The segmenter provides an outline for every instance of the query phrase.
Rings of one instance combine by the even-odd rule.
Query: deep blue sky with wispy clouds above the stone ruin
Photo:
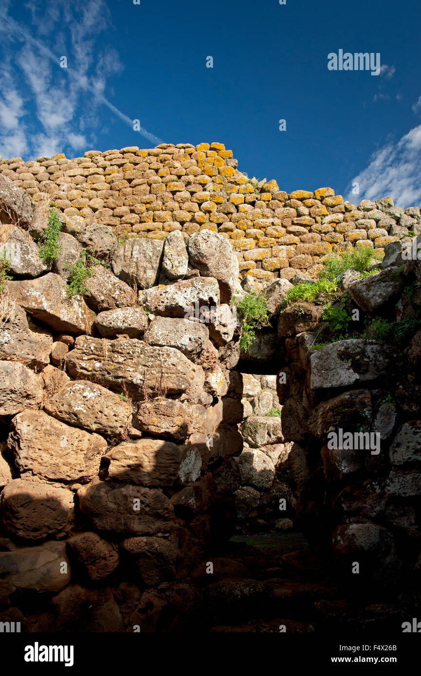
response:
[[[220,141],[288,192],[419,206],[420,20],[419,0],[0,0],[0,154]],[[340,49],[380,74],[328,70]]]

